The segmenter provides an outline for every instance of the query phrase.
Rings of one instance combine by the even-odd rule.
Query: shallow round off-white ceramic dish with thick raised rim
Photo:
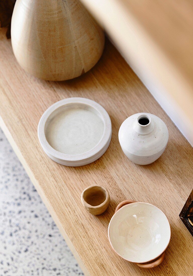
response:
[[[98,103],[73,97],[51,105],[38,124],[44,152],[65,166],[83,166],[101,157],[109,147],[111,120]]]

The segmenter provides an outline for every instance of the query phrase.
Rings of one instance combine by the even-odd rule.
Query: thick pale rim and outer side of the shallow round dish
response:
[[[97,112],[100,113],[101,118],[104,122],[104,132],[101,140],[91,150],[77,155],[65,154],[55,150],[47,142],[45,135],[45,125],[49,116],[59,107],[68,105],[70,103],[80,103],[94,108]],[[99,103],[82,97],[71,97],[55,102],[49,108],[47,108],[38,123],[38,139],[44,152],[55,162],[64,164],[66,166],[82,166],[84,164],[88,164],[97,160],[107,150],[110,144],[111,135],[112,125],[110,116],[107,111]],[[89,160],[91,160],[91,162],[89,162]]]

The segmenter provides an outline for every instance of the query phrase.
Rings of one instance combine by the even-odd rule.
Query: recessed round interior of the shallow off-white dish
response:
[[[68,103],[51,113],[44,131],[52,148],[77,155],[88,152],[99,143],[104,134],[104,120],[87,104]]]

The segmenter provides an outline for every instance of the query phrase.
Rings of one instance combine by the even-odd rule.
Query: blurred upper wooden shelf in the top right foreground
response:
[[[192,1],[81,2],[193,145]]]

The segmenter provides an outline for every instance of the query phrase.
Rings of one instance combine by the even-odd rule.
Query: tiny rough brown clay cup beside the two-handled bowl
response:
[[[89,213],[100,215],[108,208],[110,196],[105,187],[91,185],[82,192],[81,201]]]

